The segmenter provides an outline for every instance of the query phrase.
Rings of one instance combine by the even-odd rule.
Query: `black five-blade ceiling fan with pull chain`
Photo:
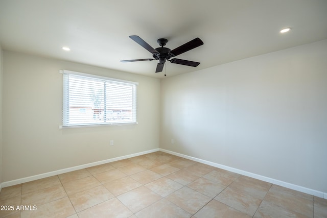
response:
[[[132,40],[134,40],[137,44],[144,47],[146,50],[148,50],[153,58],[145,58],[145,59],[134,59],[134,60],[122,60],[121,62],[134,62],[134,61],[153,61],[153,60],[159,60],[159,63],[157,63],[157,68],[155,72],[161,72],[162,69],[164,69],[164,65],[166,61],[170,61],[174,64],[181,64],[186,66],[193,66],[196,67],[200,64],[200,62],[194,62],[194,61],[188,61],[188,60],[182,60],[178,58],[173,58],[177,55],[180,55],[184,52],[190,51],[192,49],[195,49],[196,47],[203,45],[203,42],[199,38],[195,38],[189,42],[186,42],[185,44],[176,47],[174,50],[168,49],[168,47],[164,47],[166,43],[168,42],[167,39],[160,38],[157,40],[158,44],[161,47],[157,47],[156,49],[153,49],[151,45],[149,45],[147,42],[145,42],[141,37],[139,36],[129,36]]]

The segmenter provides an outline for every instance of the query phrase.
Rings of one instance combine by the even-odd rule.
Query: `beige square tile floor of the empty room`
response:
[[[327,217],[327,200],[163,152],[5,187],[0,205],[7,218]]]

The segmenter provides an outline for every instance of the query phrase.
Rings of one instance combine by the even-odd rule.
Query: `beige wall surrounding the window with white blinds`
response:
[[[3,182],[159,148],[158,79],[15,52],[3,56]],[[60,69],[138,82],[138,125],[59,129]]]

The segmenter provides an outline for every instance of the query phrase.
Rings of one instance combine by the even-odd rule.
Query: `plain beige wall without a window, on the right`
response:
[[[327,192],[326,60],[323,40],[161,80],[160,148]]]

